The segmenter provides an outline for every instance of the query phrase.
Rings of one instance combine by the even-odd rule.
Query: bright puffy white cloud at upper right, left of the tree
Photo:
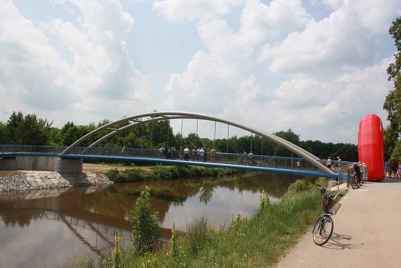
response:
[[[377,57],[376,41],[367,29],[342,10],[302,32],[292,32],[277,45],[266,44],[259,61],[269,60],[274,73],[332,73],[362,67]]]

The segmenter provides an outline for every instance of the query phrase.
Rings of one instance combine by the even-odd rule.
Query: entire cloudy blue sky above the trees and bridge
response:
[[[0,0],[0,121],[197,112],[357,143],[393,88],[399,0]],[[181,122],[172,121],[174,132]],[[183,134],[195,132],[185,120]],[[199,122],[213,138],[214,122]],[[250,135],[230,129],[231,135]],[[217,137],[227,137],[218,125]]]

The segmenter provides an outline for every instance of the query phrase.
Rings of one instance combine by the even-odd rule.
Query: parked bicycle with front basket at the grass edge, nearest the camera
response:
[[[338,192],[335,196],[329,195],[326,188],[321,185],[316,185],[320,187],[320,192],[322,196],[322,215],[316,220],[313,226],[313,241],[317,245],[324,245],[331,237],[334,228],[334,222],[331,215],[335,215],[340,208],[341,204],[336,202],[337,196],[343,196]]]

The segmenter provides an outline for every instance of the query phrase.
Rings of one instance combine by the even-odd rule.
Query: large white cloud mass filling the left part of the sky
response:
[[[119,1],[74,0],[81,11],[78,26],[56,19],[40,28],[10,1],[2,2],[0,98],[12,96],[8,103],[14,105],[6,103],[6,110],[26,107],[25,113],[34,108],[38,114],[46,114],[44,111],[51,109],[79,119],[80,112],[89,112],[93,115],[86,117],[97,121],[104,114],[115,118],[149,105],[150,83],[134,67],[126,47],[134,21]],[[61,44],[54,42],[55,37]],[[64,48],[70,61],[64,59]]]

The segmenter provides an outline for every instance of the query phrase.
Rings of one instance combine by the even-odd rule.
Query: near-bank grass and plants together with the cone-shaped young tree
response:
[[[318,178],[316,184],[327,184],[327,181]],[[151,201],[146,187],[137,201],[137,207],[143,209],[135,209],[132,214],[134,234],[131,237],[116,236],[114,248],[96,262],[91,257],[81,258],[70,267],[272,266],[279,263],[320,215],[321,197],[311,178],[305,177],[292,183],[278,202],[270,203],[263,191],[259,208],[249,218],[238,214],[231,224],[214,229],[207,216],[202,215],[193,218],[179,232],[173,227],[170,240],[156,241],[158,231],[154,228],[154,220],[157,212],[146,205]],[[138,202],[141,203],[138,205]],[[149,223],[153,226],[152,231],[138,233]],[[143,239],[145,235],[148,237],[145,242],[137,239]]]

